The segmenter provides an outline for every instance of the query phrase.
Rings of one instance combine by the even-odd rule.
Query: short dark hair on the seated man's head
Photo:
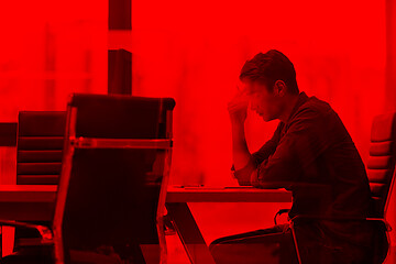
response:
[[[240,79],[264,82],[270,89],[276,80],[283,80],[290,94],[298,95],[296,70],[288,57],[279,51],[271,50],[258,53],[252,59],[246,61],[241,69]]]

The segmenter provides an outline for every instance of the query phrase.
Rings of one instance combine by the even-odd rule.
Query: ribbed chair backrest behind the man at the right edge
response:
[[[374,118],[371,131],[367,176],[374,200],[375,217],[383,218],[387,210],[389,191],[395,178],[396,112]]]

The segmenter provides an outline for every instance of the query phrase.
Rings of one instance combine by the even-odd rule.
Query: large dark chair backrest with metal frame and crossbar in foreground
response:
[[[174,106],[170,98],[72,97],[53,226],[58,263],[101,249],[158,263]]]

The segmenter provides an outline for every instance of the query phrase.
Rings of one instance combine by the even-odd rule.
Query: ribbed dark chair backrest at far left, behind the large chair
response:
[[[62,168],[64,111],[21,111],[18,122],[16,184],[55,185]]]

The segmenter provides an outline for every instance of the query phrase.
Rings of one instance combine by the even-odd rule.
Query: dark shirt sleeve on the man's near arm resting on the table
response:
[[[251,175],[255,187],[290,187],[328,147],[326,117],[312,109],[302,109],[287,124],[275,152]]]

